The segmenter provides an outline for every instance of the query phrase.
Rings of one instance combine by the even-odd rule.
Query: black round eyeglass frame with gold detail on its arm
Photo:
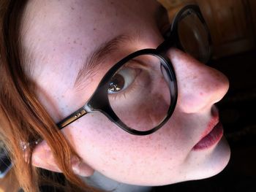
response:
[[[200,12],[200,9],[197,5],[187,5],[186,7],[182,8],[178,12],[176,17],[173,19],[173,23],[171,24],[170,29],[164,34],[165,41],[162,42],[157,47],[157,49],[138,50],[135,53],[131,53],[127,55],[125,58],[121,59],[121,61],[118,61],[113,67],[110,68],[110,70],[105,74],[105,76],[99,82],[99,85],[96,91],[94,91],[89,101],[87,101],[86,104],[83,107],[81,107],[79,110],[72,112],[72,114],[69,115],[67,118],[64,118],[64,120],[61,120],[59,123],[57,123],[57,126],[59,127],[59,129],[64,128],[65,126],[68,126],[70,123],[83,117],[83,115],[86,115],[87,113],[94,112],[94,111],[102,112],[113,123],[115,123],[117,126],[122,128],[124,131],[127,131],[129,134],[147,135],[147,134],[152,134],[155,131],[157,131],[159,128],[161,128],[165,124],[165,122],[170,118],[170,116],[173,114],[173,111],[175,110],[175,107],[176,107],[177,98],[178,98],[178,85],[176,80],[176,74],[174,72],[173,65],[170,62],[170,59],[165,56],[165,53],[168,49],[170,49],[170,47],[178,47],[179,49],[184,50],[178,38],[178,22],[179,20],[182,19],[181,15],[183,15],[183,13],[187,9],[192,9],[197,14],[198,18],[200,18],[200,21],[203,23],[203,26],[205,26],[206,30],[208,31],[206,22],[203,19],[203,15]],[[209,33],[208,33],[208,41],[211,43],[211,36]],[[162,120],[162,122],[159,123],[158,126],[148,131],[138,131],[126,126],[118,118],[116,113],[112,110],[112,108],[110,107],[110,103],[108,101],[108,86],[109,86],[109,81],[111,80],[111,77],[113,77],[113,74],[115,74],[118,71],[118,69],[121,68],[121,66],[126,64],[127,61],[131,60],[132,58],[138,57],[139,55],[154,55],[155,57],[159,58],[159,61],[161,62],[162,66],[165,68],[168,78],[170,79],[170,82],[169,82],[170,107],[167,110],[167,115]]]

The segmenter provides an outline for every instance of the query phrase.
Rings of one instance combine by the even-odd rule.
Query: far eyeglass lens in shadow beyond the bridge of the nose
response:
[[[211,55],[208,29],[193,9],[187,9],[178,22],[178,38],[184,51],[206,63]]]

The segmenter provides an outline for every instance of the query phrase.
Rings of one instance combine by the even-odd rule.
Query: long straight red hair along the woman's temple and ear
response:
[[[24,191],[39,191],[42,180],[31,165],[35,146],[27,147],[28,157],[25,160],[20,143],[44,139],[67,178],[64,191],[97,191],[72,171],[70,159],[78,154],[37,100],[34,83],[24,72],[26,61],[21,55],[21,21],[18,18],[22,18],[27,1],[0,0],[0,139],[6,145],[12,162],[15,162],[14,174],[9,177],[17,177],[18,185]]]

